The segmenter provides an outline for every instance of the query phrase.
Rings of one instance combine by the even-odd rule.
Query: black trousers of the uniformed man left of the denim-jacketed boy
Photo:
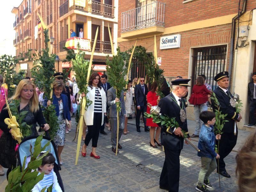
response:
[[[180,151],[181,150],[170,150],[164,146],[165,159],[159,185],[168,189],[169,192],[179,191]]]

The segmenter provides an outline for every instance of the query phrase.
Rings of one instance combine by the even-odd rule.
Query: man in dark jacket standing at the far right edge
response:
[[[255,121],[255,109],[256,109],[256,72],[252,74],[253,81],[248,83],[248,101],[249,101],[249,110],[250,110],[250,124],[252,126],[256,123]]]

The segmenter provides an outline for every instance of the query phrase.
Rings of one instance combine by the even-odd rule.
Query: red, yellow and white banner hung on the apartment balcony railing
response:
[[[80,37],[71,37],[67,39],[65,47],[68,49],[77,49],[77,44],[79,43],[80,49],[83,51],[91,51],[91,41],[90,39],[84,39]]]

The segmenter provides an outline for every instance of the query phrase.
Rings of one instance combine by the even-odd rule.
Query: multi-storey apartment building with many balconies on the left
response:
[[[30,12],[29,17],[26,16],[25,19],[26,6],[29,7]],[[80,28],[83,28],[83,38],[90,41],[90,47],[88,51],[85,51],[86,59],[90,59],[90,49],[96,32],[95,26],[99,27],[93,64],[104,65],[106,56],[109,54],[110,58],[112,57],[108,28],[106,28],[108,24],[111,28],[115,47],[117,46],[117,10],[117,0],[23,0],[18,7],[14,7],[12,10],[12,13],[15,14],[16,38],[13,44],[16,47],[16,56],[26,55],[25,52],[28,52],[28,49],[32,49],[32,53],[41,54],[42,48],[45,47],[43,30],[38,28],[40,26],[38,24],[39,13],[49,29],[49,37],[54,37],[52,53],[58,56],[58,60],[56,60],[57,71],[62,72],[63,68],[72,67],[72,63],[62,62],[67,54],[63,47],[65,47],[67,39],[70,38],[70,29],[73,29],[78,36]],[[23,20],[20,21],[23,16],[24,24]],[[29,29],[30,34],[28,40],[23,36],[27,29]],[[20,60],[19,64],[17,70],[21,66],[27,65],[27,75],[30,76],[33,62],[25,58],[24,61]],[[71,73],[71,76],[74,74]]]

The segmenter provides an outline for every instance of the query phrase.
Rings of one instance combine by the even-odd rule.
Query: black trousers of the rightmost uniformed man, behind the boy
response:
[[[219,159],[220,172],[226,171],[225,169],[226,164],[224,162],[224,158],[228,156],[228,154],[235,147],[236,140],[237,140],[237,134],[235,136],[234,133],[222,133],[221,139],[219,141],[218,140],[216,141],[217,147],[218,147],[218,142],[220,142],[219,149],[218,149],[219,155],[220,155],[220,159]],[[216,159],[216,161],[218,166],[218,160]],[[218,171],[218,167],[217,167],[217,171]]]

